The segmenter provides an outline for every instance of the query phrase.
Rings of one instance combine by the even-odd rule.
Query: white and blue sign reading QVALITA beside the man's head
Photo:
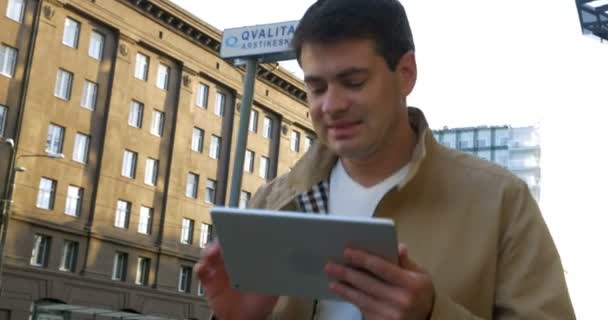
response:
[[[224,30],[220,56],[224,59],[256,58],[259,62],[295,59],[291,40],[298,20]]]

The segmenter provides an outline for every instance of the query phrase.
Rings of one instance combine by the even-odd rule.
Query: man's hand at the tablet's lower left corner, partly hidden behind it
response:
[[[222,248],[217,242],[203,249],[195,270],[205,288],[207,302],[220,320],[265,319],[277,303],[277,296],[244,293],[230,286]]]

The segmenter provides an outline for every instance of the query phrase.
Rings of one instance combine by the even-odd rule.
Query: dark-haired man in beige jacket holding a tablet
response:
[[[252,207],[388,217],[399,264],[347,249],[328,263],[346,302],[240,293],[221,248],[197,273],[216,318],[574,319],[563,269],[526,184],[439,145],[408,108],[414,43],[397,0],[319,0],[296,31],[318,143]],[[406,249],[407,247],[407,249]]]

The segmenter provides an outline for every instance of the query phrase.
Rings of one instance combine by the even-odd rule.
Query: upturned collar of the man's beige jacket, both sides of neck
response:
[[[409,162],[408,174],[399,183],[400,189],[416,175],[422,160],[426,157],[427,149],[434,143],[433,133],[429,129],[422,111],[418,108],[408,107],[408,116],[410,125],[418,136],[418,142]],[[328,179],[336,161],[338,161],[338,155],[325,145],[315,142],[291,170],[287,182],[296,194],[307,192],[313,186]]]

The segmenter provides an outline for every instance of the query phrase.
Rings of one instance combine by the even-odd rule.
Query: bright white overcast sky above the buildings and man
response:
[[[218,29],[298,20],[314,2],[172,1]],[[604,317],[608,42],[581,34],[574,0],[401,2],[418,62],[408,104],[432,128],[539,126],[540,204],[577,317]]]

